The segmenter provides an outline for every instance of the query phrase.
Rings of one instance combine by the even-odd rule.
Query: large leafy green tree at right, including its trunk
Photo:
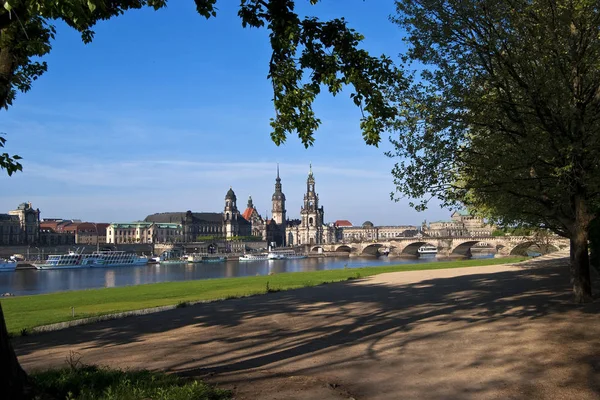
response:
[[[588,229],[600,195],[600,10],[593,0],[402,0],[407,63],[391,157],[397,191],[462,202],[571,241],[591,298]]]

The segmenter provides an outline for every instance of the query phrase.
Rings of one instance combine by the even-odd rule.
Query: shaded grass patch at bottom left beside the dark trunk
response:
[[[220,400],[231,394],[202,382],[150,371],[95,366],[49,370],[31,375],[37,391],[67,400]]]

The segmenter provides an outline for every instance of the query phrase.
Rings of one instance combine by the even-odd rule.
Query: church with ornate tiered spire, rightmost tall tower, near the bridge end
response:
[[[319,195],[315,189],[315,177],[310,166],[306,179],[304,205],[300,209],[300,222],[290,223],[286,229],[288,245],[318,245],[335,243],[335,226],[324,224],[325,212],[319,207]]]

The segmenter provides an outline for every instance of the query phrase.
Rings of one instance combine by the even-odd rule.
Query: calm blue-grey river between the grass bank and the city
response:
[[[479,255],[489,258],[493,255]],[[61,270],[17,270],[0,272],[0,294],[16,296],[53,293],[65,290],[96,289],[142,285],[146,283],[189,281],[268,275],[269,273],[321,271],[365,266],[415,264],[436,261],[435,256],[419,259],[374,258],[304,258],[277,261],[227,261],[213,264],[155,264],[140,267],[78,268]],[[443,262],[443,261],[440,261]]]

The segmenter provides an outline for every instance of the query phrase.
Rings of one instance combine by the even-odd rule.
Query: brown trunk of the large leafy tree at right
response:
[[[592,301],[590,256],[588,254],[588,231],[592,218],[582,197],[573,202],[575,221],[571,228],[571,283],[577,303]]]

